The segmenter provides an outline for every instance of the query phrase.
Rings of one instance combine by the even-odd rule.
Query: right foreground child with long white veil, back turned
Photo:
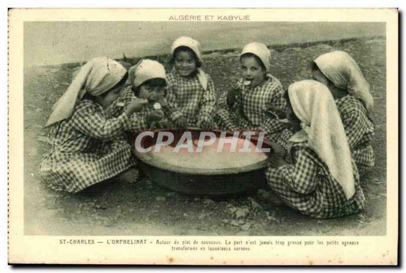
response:
[[[291,84],[286,115],[294,134],[288,155],[269,158],[268,185],[288,206],[315,218],[332,218],[362,211],[365,197],[340,114],[328,88],[313,80]]]

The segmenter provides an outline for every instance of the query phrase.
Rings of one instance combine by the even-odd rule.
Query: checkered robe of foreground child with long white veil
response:
[[[269,166],[266,171],[268,185],[289,207],[314,218],[340,217],[362,211],[365,197],[354,162],[355,194],[347,200],[327,165],[306,142],[295,143],[290,155],[292,164],[277,168]]]

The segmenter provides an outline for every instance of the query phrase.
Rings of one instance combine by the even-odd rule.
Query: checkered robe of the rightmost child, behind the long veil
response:
[[[374,166],[375,155],[372,148],[374,123],[369,119],[361,101],[353,95],[335,100],[347,134],[351,156],[359,174]]]

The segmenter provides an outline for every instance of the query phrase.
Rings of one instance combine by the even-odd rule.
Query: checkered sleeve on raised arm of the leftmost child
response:
[[[128,117],[125,113],[118,118],[106,119],[89,100],[81,101],[72,116],[73,126],[95,139],[111,140],[124,132]]]

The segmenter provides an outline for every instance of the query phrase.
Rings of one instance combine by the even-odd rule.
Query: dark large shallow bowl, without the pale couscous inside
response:
[[[142,147],[148,148],[153,146],[159,131],[168,130],[155,130],[154,138],[143,138],[141,142]],[[192,133],[193,138],[198,138],[201,132],[201,130],[196,128],[190,128],[188,131]],[[219,137],[221,131],[212,131]],[[177,143],[184,131],[171,130],[171,132],[174,133],[174,142]],[[232,136],[232,133],[228,132],[227,136]],[[132,139],[132,144],[134,143],[135,137]],[[256,144],[256,138],[252,138],[252,142]],[[141,153],[134,148],[134,145],[132,145],[132,147],[134,154],[136,154],[142,162],[143,172],[151,181],[178,192],[186,194],[223,195],[266,187],[264,174],[264,170],[267,166],[266,159],[239,168],[188,168],[162,162],[155,158],[153,153]],[[263,143],[262,147],[269,148],[266,143]]]

